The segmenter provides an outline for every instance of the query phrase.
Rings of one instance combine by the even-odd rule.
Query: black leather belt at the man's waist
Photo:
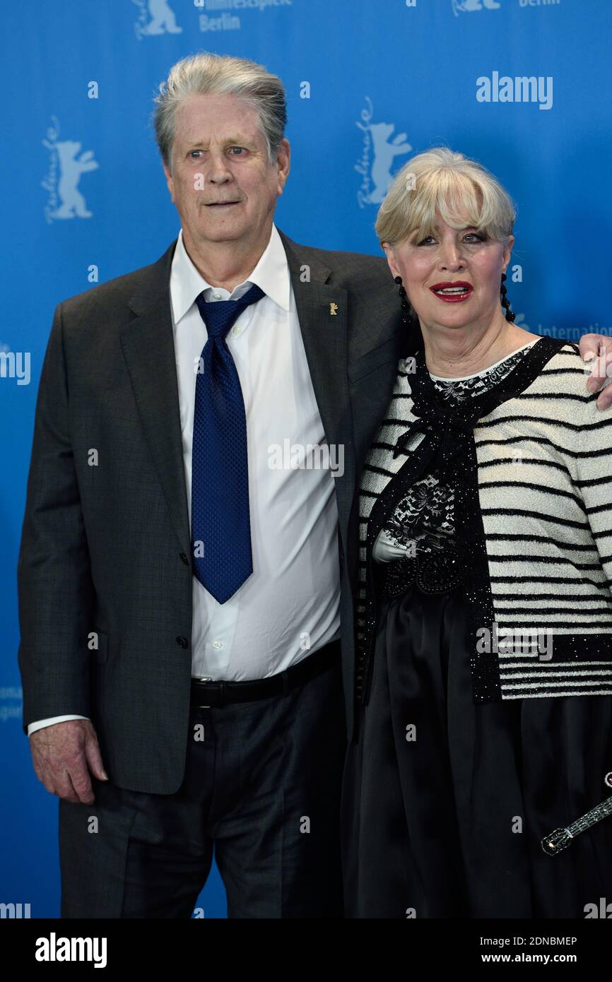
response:
[[[210,706],[226,706],[231,702],[252,702],[269,699],[272,695],[287,695],[297,685],[326,672],[340,659],[340,641],[330,641],[324,647],[306,655],[301,662],[268,679],[249,682],[212,682],[192,678],[192,706],[208,709]]]

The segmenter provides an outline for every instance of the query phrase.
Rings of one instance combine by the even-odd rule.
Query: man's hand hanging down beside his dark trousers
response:
[[[28,738],[36,777],[50,794],[75,803],[95,800],[89,771],[98,781],[108,781],[108,775],[89,720],[54,723]]]

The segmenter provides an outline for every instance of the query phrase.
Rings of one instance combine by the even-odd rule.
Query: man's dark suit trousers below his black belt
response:
[[[214,846],[230,917],[341,917],[339,663],[191,717],[175,794],[94,780],[92,804],[60,799],[61,916],[189,918]]]

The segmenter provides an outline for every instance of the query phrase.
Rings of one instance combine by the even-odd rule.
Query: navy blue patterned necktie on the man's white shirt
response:
[[[195,299],[208,339],[195,379],[192,546],[195,576],[220,604],[252,573],[247,416],[225,336],[264,296],[255,285],[240,300]]]

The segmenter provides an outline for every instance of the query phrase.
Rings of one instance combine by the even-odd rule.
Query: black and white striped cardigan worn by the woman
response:
[[[366,458],[360,491],[358,698],[375,637],[372,546],[402,490],[426,472],[423,432],[400,371]],[[541,338],[511,373],[513,395],[471,427],[458,548],[473,632],[475,702],[612,694],[612,410],[585,390],[578,347]],[[510,376],[509,376],[510,377]],[[413,381],[413,385],[415,382]],[[519,628],[551,637],[549,653],[516,643]],[[497,650],[480,640],[497,634]],[[502,643],[514,635],[515,643]]]

